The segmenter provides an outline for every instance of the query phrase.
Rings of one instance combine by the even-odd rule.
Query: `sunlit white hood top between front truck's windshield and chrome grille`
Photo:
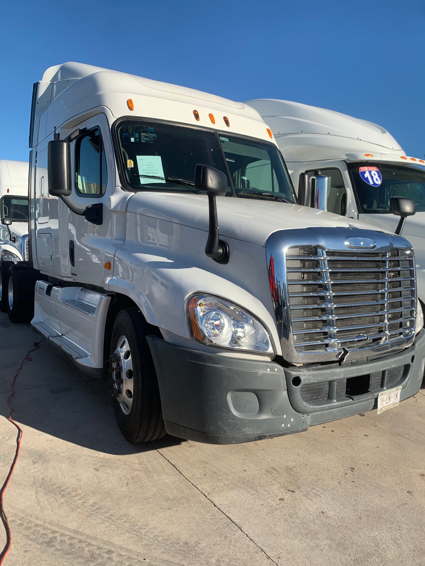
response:
[[[278,230],[352,226],[386,231],[351,218],[296,204],[229,197],[216,200],[220,236],[257,246],[265,246],[269,235]],[[139,192],[129,199],[127,211],[208,231],[208,199],[205,195]]]

